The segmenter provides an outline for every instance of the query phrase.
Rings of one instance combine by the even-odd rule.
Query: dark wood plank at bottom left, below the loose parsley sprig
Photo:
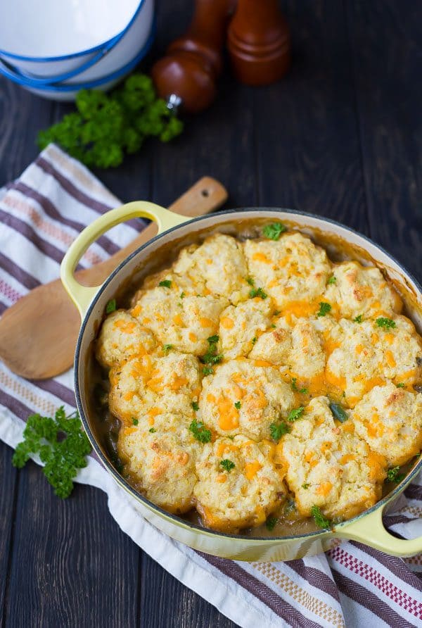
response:
[[[77,485],[67,500],[41,470],[20,472],[6,626],[134,626],[139,549],[106,495]]]

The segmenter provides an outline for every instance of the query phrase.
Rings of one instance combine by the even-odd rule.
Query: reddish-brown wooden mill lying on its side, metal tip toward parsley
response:
[[[170,108],[196,113],[215,99],[226,26],[236,0],[196,0],[191,25],[152,69],[158,95]]]

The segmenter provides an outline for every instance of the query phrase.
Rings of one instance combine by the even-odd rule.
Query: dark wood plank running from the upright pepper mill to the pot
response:
[[[343,3],[283,1],[293,67],[257,89],[261,205],[296,208],[367,230]]]

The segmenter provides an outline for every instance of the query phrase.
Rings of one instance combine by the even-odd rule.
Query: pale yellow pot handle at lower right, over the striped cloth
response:
[[[335,536],[359,541],[392,556],[414,556],[422,551],[422,536],[416,539],[397,539],[383,524],[384,504],[368,515],[362,515],[357,521],[345,523],[335,529]]]

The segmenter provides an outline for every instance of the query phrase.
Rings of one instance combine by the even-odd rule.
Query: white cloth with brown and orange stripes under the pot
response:
[[[129,199],[127,199],[129,200]],[[118,199],[56,146],[0,191],[0,315],[42,282],[56,279],[70,242]],[[107,258],[141,230],[120,225],[82,259]],[[27,382],[0,363],[0,438],[15,446],[27,415],[75,406],[72,372]],[[111,515],[136,544],[167,571],[245,628],[422,625],[422,555],[401,560],[344,542],[326,554],[289,563],[241,563],[200,554],[172,541],[142,519],[94,456],[78,482],[108,494]],[[422,534],[422,479],[418,477],[386,520],[405,538]]]

